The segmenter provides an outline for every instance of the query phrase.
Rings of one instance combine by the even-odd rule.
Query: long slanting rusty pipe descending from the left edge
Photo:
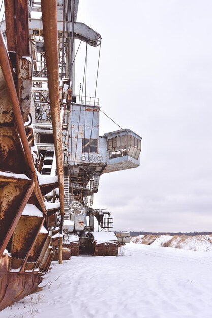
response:
[[[46,214],[46,208],[45,208],[45,204],[44,204],[43,197],[41,194],[40,186],[38,184],[37,175],[36,175],[36,171],[35,171],[35,165],[33,162],[31,150],[30,150],[29,145],[28,145],[28,140],[27,140],[26,131],[24,128],[23,118],[21,115],[19,100],[18,100],[18,96],[16,93],[16,88],[15,88],[15,84],[14,84],[14,80],[13,80],[13,76],[12,76],[12,72],[11,72],[11,68],[10,68],[10,60],[9,60],[9,56],[8,56],[8,53],[7,53],[7,50],[5,47],[2,32],[0,32],[0,65],[2,68],[2,72],[4,74],[4,78],[5,78],[5,82],[6,82],[8,91],[10,93],[10,98],[11,98],[11,102],[12,102],[12,106],[13,106],[13,113],[15,116],[15,121],[16,121],[17,129],[18,129],[18,133],[20,135],[20,139],[21,139],[23,149],[25,152],[26,160],[27,160],[29,169],[31,170],[31,173],[33,176],[33,181],[35,183],[35,194],[36,194],[36,197],[38,199],[38,202],[39,202],[44,214]]]

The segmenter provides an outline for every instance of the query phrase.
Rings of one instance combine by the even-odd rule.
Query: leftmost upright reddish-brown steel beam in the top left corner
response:
[[[14,0],[5,0],[5,21],[8,51],[16,51],[15,46]]]

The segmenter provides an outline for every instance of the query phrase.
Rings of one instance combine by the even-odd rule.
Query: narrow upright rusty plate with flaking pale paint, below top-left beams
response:
[[[18,65],[18,83],[19,83],[19,101],[22,110],[23,122],[28,118],[31,101],[32,86],[32,65],[29,58],[19,58]]]

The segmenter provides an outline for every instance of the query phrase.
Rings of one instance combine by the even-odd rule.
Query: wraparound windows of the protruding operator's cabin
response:
[[[141,141],[132,135],[116,136],[108,140],[108,151],[110,159],[128,155],[138,160]]]

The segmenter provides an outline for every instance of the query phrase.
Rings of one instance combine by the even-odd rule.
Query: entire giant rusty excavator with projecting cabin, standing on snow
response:
[[[139,166],[141,137],[99,136],[99,100],[75,94],[75,41],[101,44],[76,22],[78,3],[2,0],[0,310],[35,291],[52,260],[117,255],[129,241],[93,194],[103,173]]]

